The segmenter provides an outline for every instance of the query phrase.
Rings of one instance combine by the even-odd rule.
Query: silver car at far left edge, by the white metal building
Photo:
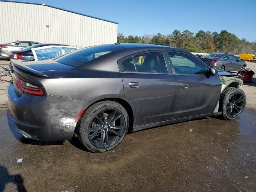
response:
[[[6,44],[0,44],[0,56],[2,57],[10,57],[10,52],[14,50],[21,50],[23,48],[40,44],[38,42],[33,41],[15,41]]]

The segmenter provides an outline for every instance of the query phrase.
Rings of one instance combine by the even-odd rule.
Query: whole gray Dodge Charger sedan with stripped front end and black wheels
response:
[[[190,52],[148,44],[109,44],[53,60],[12,59],[9,114],[36,140],[77,135],[92,152],[115,148],[128,131],[244,110],[242,81]]]

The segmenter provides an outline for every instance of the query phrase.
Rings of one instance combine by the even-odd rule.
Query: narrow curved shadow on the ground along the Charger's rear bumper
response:
[[[33,139],[25,138],[16,129],[16,125],[14,124],[14,122],[13,122],[12,118],[10,117],[10,114],[8,113],[8,111],[6,112],[6,116],[7,116],[7,122],[8,122],[8,126],[10,128],[10,131],[12,132],[13,136],[19,142],[22,142],[24,144],[41,145],[41,146],[45,146],[45,145],[63,145],[64,144],[64,141],[40,141],[40,140],[33,140]]]

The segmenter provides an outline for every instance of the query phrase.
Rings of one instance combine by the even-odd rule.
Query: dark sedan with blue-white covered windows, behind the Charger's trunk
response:
[[[74,50],[78,50],[78,48],[62,44],[38,44],[22,50],[12,51],[11,58],[25,61],[48,60]]]

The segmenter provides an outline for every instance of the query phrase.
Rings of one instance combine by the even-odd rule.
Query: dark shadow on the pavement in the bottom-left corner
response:
[[[20,174],[10,175],[8,169],[0,165],[0,192],[4,192],[4,188],[7,184],[12,183],[17,186],[18,192],[26,192],[26,188],[23,184],[23,178]]]

